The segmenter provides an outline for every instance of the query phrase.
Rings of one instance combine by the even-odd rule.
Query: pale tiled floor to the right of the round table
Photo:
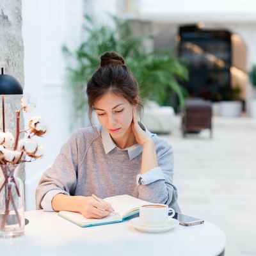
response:
[[[180,134],[173,120],[175,185],[183,212],[200,216],[227,236],[227,256],[256,255],[256,120],[213,119],[209,132]]]

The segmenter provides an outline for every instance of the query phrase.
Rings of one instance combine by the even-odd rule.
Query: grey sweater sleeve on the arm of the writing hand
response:
[[[42,209],[42,200],[51,190],[72,195],[77,184],[77,134],[74,134],[65,143],[56,157],[51,168],[47,169],[36,188],[36,209]],[[51,204],[51,202],[48,202]]]

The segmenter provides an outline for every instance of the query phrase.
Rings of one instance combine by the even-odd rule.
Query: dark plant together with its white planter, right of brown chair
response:
[[[240,98],[241,88],[225,86],[220,90],[220,116],[241,116],[242,102]]]

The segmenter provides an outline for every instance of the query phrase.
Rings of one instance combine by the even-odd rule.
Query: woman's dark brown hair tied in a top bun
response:
[[[100,67],[87,83],[88,115],[91,124],[93,104],[108,92],[124,97],[132,105],[142,107],[135,99],[136,95],[139,95],[138,83],[125,66],[124,58],[116,52],[105,52],[100,56]]]

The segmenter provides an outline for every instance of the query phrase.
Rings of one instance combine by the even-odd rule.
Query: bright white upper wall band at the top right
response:
[[[177,21],[232,21],[244,22],[256,19],[254,0],[140,0],[134,5],[138,17],[148,20]]]

